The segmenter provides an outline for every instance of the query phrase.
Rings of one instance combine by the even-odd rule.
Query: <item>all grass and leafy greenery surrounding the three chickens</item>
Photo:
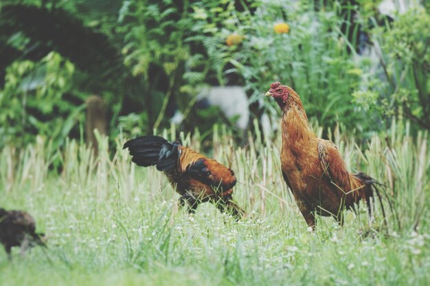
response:
[[[12,262],[0,250],[0,286],[428,285],[430,2],[407,2],[1,1],[0,207],[32,214],[49,247]],[[263,96],[275,81],[350,171],[381,182],[372,219],[360,206],[308,231]],[[242,86],[246,130],[201,108],[210,86]],[[98,154],[92,95],[107,110]],[[152,133],[231,167],[249,215],[179,208],[165,176],[122,150]]]

